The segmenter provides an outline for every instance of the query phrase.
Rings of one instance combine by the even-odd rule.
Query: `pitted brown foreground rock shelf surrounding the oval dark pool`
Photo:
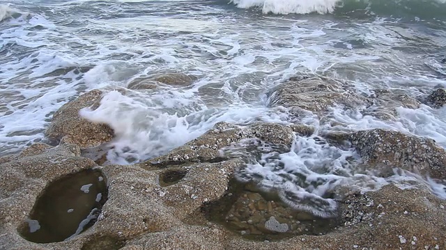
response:
[[[311,131],[306,127],[293,128],[300,133]],[[34,201],[48,183],[97,165],[80,157],[78,146],[67,143],[54,148],[36,144],[17,156],[0,159],[0,248],[289,250],[446,247],[443,233],[446,202],[426,187],[400,189],[390,184],[376,192],[355,192],[349,187],[339,187],[339,215],[329,227],[323,227],[328,225],[323,223],[318,226],[317,222],[323,222],[318,221],[320,218],[290,210],[280,201],[256,190],[238,189],[231,176],[235,169],[243,166],[243,159],[219,158],[219,149],[249,138],[287,145],[293,142],[293,133],[291,127],[279,124],[236,126],[220,123],[197,140],[155,161],[100,167],[107,179],[108,200],[102,206],[98,221],[70,240],[50,244],[29,242],[17,233],[17,228],[31,213]],[[403,148],[431,164],[426,166],[426,171],[430,172],[431,168],[436,169],[436,164],[442,163],[439,155],[442,152],[429,140],[382,130],[361,131],[348,138],[370,165],[387,159],[396,165],[409,166],[412,163],[409,164],[406,158],[390,151]],[[383,142],[388,145],[379,147]],[[421,151],[417,151],[419,149]],[[405,157],[410,155],[408,151],[406,153]],[[422,153],[426,153],[431,161],[421,158],[419,154]],[[222,199],[226,199],[224,203],[220,203]],[[209,209],[212,204],[219,205],[227,213],[217,215],[215,210]],[[229,219],[231,214],[236,214],[239,223]],[[220,217],[223,220],[228,217],[228,222],[238,230],[219,221],[218,216],[223,216]]]

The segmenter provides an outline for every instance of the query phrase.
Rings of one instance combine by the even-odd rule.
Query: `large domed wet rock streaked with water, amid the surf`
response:
[[[322,114],[327,108],[339,104],[346,108],[364,105],[364,97],[355,93],[353,86],[330,78],[312,77],[296,79],[278,85],[269,94],[269,105],[299,109]]]

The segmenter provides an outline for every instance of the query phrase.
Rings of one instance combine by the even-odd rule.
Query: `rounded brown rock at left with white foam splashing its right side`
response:
[[[75,144],[81,148],[95,147],[112,140],[114,131],[105,124],[95,124],[79,116],[82,108],[98,108],[102,91],[91,90],[64,104],[52,118],[45,135],[48,138]]]

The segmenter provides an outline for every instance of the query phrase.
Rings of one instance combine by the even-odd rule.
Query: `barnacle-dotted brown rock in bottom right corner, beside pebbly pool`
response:
[[[227,249],[444,249],[445,201],[428,190],[386,185],[344,198],[344,223],[325,235],[300,235],[279,242],[232,238]],[[347,216],[348,215],[348,216]]]

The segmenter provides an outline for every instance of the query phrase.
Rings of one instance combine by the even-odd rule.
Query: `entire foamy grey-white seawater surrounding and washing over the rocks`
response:
[[[429,15],[417,8],[420,4]],[[445,108],[400,107],[394,120],[382,120],[367,115],[374,107],[334,106],[325,117],[309,112],[296,118],[285,108],[267,105],[272,87],[300,74],[348,81],[364,96],[392,89],[425,97],[436,86],[444,87],[443,4],[0,1],[0,156],[45,142],[52,114],[95,88],[106,90],[100,107],[80,114],[116,131],[107,145],[108,164],[160,156],[217,122],[301,122],[316,126],[318,133],[387,128],[432,138],[446,147]],[[114,91],[134,79],[171,72],[196,80],[179,87]],[[367,190],[415,179],[445,197],[443,185],[426,176],[396,172],[377,178],[357,172],[359,158],[353,149],[317,138],[297,137],[291,149],[272,153],[274,157],[263,152],[243,169],[245,181],[263,176],[255,180],[261,188],[278,192],[291,206],[302,199],[312,201],[296,208],[321,216],[335,210],[336,203],[324,194],[337,185]],[[291,173],[288,181],[277,165]],[[302,175],[307,181],[296,177]],[[318,185],[310,185],[311,180]]]

